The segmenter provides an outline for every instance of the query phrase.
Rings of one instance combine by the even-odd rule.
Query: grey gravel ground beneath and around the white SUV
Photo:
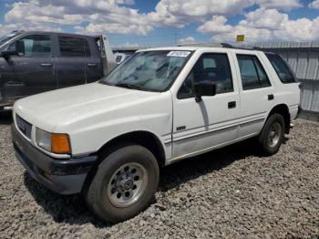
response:
[[[1,238],[319,238],[318,124],[296,121],[273,157],[248,140],[173,164],[149,209],[109,224],[80,196],[30,178],[15,160],[8,118],[0,118]]]

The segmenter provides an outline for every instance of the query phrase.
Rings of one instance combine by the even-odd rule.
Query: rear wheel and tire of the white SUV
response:
[[[258,139],[262,151],[266,155],[273,155],[279,151],[283,142],[284,127],[284,120],[281,114],[274,113],[266,121]]]

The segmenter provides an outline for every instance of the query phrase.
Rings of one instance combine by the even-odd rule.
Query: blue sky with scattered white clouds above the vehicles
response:
[[[13,30],[105,34],[112,47],[319,40],[319,0],[0,0]]]

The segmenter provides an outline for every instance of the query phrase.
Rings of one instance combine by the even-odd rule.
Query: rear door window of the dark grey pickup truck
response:
[[[58,36],[61,57],[90,57],[87,40],[74,36]]]

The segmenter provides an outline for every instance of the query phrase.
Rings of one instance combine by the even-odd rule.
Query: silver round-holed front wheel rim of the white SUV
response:
[[[148,173],[137,162],[126,163],[118,168],[108,182],[108,200],[119,208],[129,207],[139,201],[148,184]]]

